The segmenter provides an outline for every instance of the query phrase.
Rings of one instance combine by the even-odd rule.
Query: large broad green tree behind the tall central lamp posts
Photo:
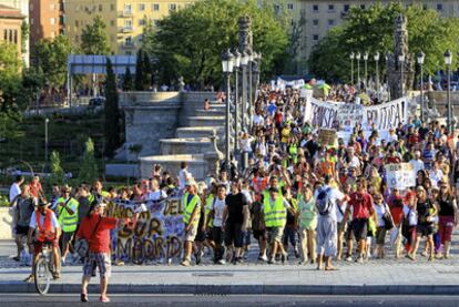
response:
[[[254,50],[263,53],[262,79],[280,72],[288,44],[282,12],[276,14],[272,4],[255,0],[203,0],[162,19],[154,42],[144,44],[159,59],[163,82],[183,76],[198,89],[218,83],[221,54],[238,45],[238,18],[244,14],[252,18]]]

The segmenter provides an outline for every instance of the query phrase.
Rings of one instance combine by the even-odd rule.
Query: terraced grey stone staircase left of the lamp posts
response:
[[[176,129],[175,137],[159,141],[160,155],[139,158],[142,177],[149,177],[155,164],[176,175],[181,163],[186,162],[188,171],[201,181],[212,171],[210,165],[222,158],[215,147],[224,145],[225,104],[212,102],[210,110],[195,110],[194,113],[187,117],[187,126]]]

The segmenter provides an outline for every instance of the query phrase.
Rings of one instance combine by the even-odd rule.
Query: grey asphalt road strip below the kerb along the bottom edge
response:
[[[353,306],[353,307],[457,307],[457,296],[273,296],[273,295],[231,295],[231,296],[191,296],[191,295],[112,295],[110,306]],[[79,301],[76,295],[38,295],[10,294],[0,295],[1,306],[18,306],[17,304],[33,303],[33,306],[59,306]],[[90,296],[90,303],[98,301],[96,296]],[[85,304],[93,305],[93,304]]]

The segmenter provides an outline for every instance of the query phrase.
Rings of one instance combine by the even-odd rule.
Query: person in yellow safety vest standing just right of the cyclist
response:
[[[74,253],[71,242],[73,235],[76,232],[78,226],[78,207],[79,203],[73,198],[70,193],[72,188],[68,185],[62,186],[61,197],[58,199],[58,221],[62,229],[61,236],[61,250],[62,250],[62,264],[65,264],[67,255],[70,252],[73,255],[72,260],[79,258]]]

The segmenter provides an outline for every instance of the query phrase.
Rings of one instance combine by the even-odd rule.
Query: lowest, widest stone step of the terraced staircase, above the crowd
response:
[[[181,170],[181,163],[186,162],[188,171],[197,181],[205,178],[207,170],[207,162],[204,160],[203,154],[150,155],[141,156],[139,160],[142,178],[151,176],[155,164],[161,164],[164,171],[177,175]]]

